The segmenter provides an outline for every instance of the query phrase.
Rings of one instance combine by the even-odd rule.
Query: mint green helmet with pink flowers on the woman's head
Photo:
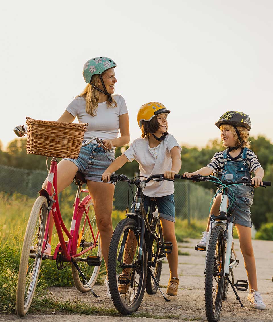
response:
[[[90,84],[93,75],[101,74],[107,69],[114,68],[116,66],[117,64],[111,58],[108,57],[91,58],[84,64],[84,81]]]

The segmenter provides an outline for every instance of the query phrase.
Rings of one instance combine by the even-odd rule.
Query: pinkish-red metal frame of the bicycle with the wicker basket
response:
[[[44,253],[47,242],[48,242],[49,222],[50,222],[50,218],[52,216],[54,223],[55,223],[56,230],[57,230],[58,238],[59,238],[59,243],[57,244],[57,247],[55,249],[52,259],[56,260],[58,252],[62,252],[62,254],[63,254],[62,260],[63,261],[68,261],[68,262],[73,261],[74,258],[77,258],[77,257],[83,255],[84,253],[86,253],[87,251],[90,251],[91,249],[93,249],[97,245],[99,232],[97,232],[96,236],[94,236],[93,230],[91,227],[91,223],[90,223],[89,217],[87,215],[88,209],[85,208],[85,205],[92,198],[89,194],[89,195],[85,196],[84,199],[81,201],[80,194],[82,191],[81,190],[82,186],[81,185],[78,186],[78,190],[77,190],[77,194],[76,194],[75,202],[74,202],[74,210],[73,210],[70,231],[68,231],[68,229],[66,228],[66,226],[63,222],[61,212],[60,212],[59,202],[58,202],[57,158],[55,158],[55,157],[51,159],[50,170],[49,170],[47,180],[48,180],[48,182],[47,182],[46,188],[39,191],[40,195],[44,195],[48,199],[48,211],[49,211],[41,253],[42,254]],[[53,194],[52,194],[52,189],[53,189]],[[83,190],[83,192],[88,192],[88,191]],[[84,225],[88,224],[90,227],[90,230],[92,232],[93,244],[90,247],[81,251],[80,253],[76,253],[77,246],[78,246],[78,240],[77,240],[77,236],[74,237],[74,232],[78,231],[80,223],[81,223],[81,219],[82,219],[82,216],[84,213],[85,213],[86,219],[87,219],[87,223],[86,223],[86,219],[85,219]],[[65,241],[64,234],[62,231],[65,232],[65,234],[68,238],[68,241]]]

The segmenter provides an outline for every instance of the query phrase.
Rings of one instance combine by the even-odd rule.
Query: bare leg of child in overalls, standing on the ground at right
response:
[[[256,264],[251,242],[251,228],[236,224],[239,236],[240,248],[244,258],[244,266],[249,281],[249,288],[258,290]]]

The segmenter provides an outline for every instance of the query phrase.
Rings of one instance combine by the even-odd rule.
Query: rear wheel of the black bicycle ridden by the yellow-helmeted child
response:
[[[163,234],[162,234],[162,228],[161,228],[159,220],[158,220],[158,222],[156,224],[155,234],[160,239],[160,243],[162,245],[163,244]],[[156,255],[156,251],[157,251],[157,242],[154,240],[152,249],[148,251],[148,260],[149,261],[154,260],[154,257]],[[159,258],[160,258],[160,255],[163,256],[163,252],[162,252],[161,249],[159,250]],[[159,284],[159,280],[160,280],[160,276],[161,276],[161,270],[162,270],[162,260],[159,261],[159,262],[156,262],[155,267],[151,266],[151,270],[152,270],[152,272],[154,274],[155,279],[157,280],[157,282]],[[156,293],[157,289],[158,289],[158,287],[156,286],[156,284],[154,282],[154,279],[151,277],[150,274],[147,274],[146,292],[148,294],[154,294],[154,293]]]

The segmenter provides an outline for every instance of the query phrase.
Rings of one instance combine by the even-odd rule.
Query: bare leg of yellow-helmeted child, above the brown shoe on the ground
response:
[[[163,237],[166,242],[172,242],[172,252],[167,254],[167,260],[170,267],[170,275],[178,278],[178,247],[174,231],[174,223],[170,220],[160,218]]]

